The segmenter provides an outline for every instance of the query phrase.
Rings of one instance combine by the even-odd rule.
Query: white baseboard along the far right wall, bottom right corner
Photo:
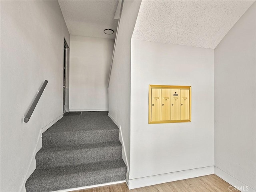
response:
[[[233,176],[231,176],[230,174],[224,172],[223,170],[221,170],[220,168],[215,166],[215,174],[222,178],[224,181],[226,181],[227,183],[229,183],[230,185],[232,185],[232,188],[230,188],[230,191],[237,191],[234,190],[233,186],[240,190],[241,192],[256,192],[255,189],[251,188],[250,186],[244,184],[243,182],[237,180],[236,178],[234,178]]]

